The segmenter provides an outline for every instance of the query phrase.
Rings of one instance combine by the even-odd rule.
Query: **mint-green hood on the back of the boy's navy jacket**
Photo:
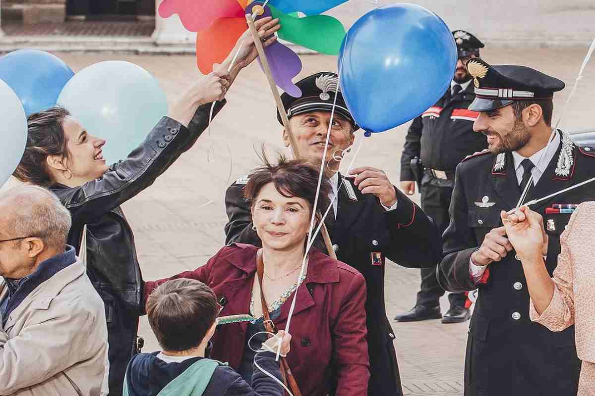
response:
[[[202,396],[215,369],[222,364],[217,360],[201,359],[165,385],[157,396]]]

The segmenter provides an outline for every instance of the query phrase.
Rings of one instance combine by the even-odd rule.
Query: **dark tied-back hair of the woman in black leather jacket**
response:
[[[64,119],[69,115],[70,112],[62,107],[52,107],[27,118],[27,144],[23,158],[13,173],[15,178],[42,187],[54,183],[46,159],[49,156],[70,158],[68,140],[62,128]]]

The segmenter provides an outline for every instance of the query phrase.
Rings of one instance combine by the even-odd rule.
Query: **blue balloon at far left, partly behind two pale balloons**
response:
[[[55,106],[73,75],[60,58],[39,50],[17,49],[0,57],[0,80],[17,94],[27,116]]]

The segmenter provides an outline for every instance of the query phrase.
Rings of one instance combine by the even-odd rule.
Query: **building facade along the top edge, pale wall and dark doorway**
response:
[[[179,17],[159,17],[162,0],[0,0],[1,24],[67,23],[68,21],[154,23],[156,46],[190,46],[194,33]],[[212,0],[195,0],[208,1]],[[411,0],[410,0],[411,1]],[[328,12],[349,28],[361,15],[390,0],[350,0]],[[472,31],[490,45],[584,46],[595,37],[594,0],[414,0],[440,15],[453,29]],[[0,25],[1,27],[1,25]],[[2,33],[0,33],[2,34]]]

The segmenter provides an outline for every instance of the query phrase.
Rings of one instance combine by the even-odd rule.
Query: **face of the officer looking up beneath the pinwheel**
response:
[[[314,161],[322,159],[330,121],[330,112],[303,113],[293,116],[289,120],[300,156]],[[337,113],[334,114],[333,127],[328,140],[327,161],[333,157],[333,154],[340,154],[339,150],[345,150],[353,144],[352,130],[349,121]],[[289,145],[286,133],[283,133],[283,140],[285,140],[286,146]]]

